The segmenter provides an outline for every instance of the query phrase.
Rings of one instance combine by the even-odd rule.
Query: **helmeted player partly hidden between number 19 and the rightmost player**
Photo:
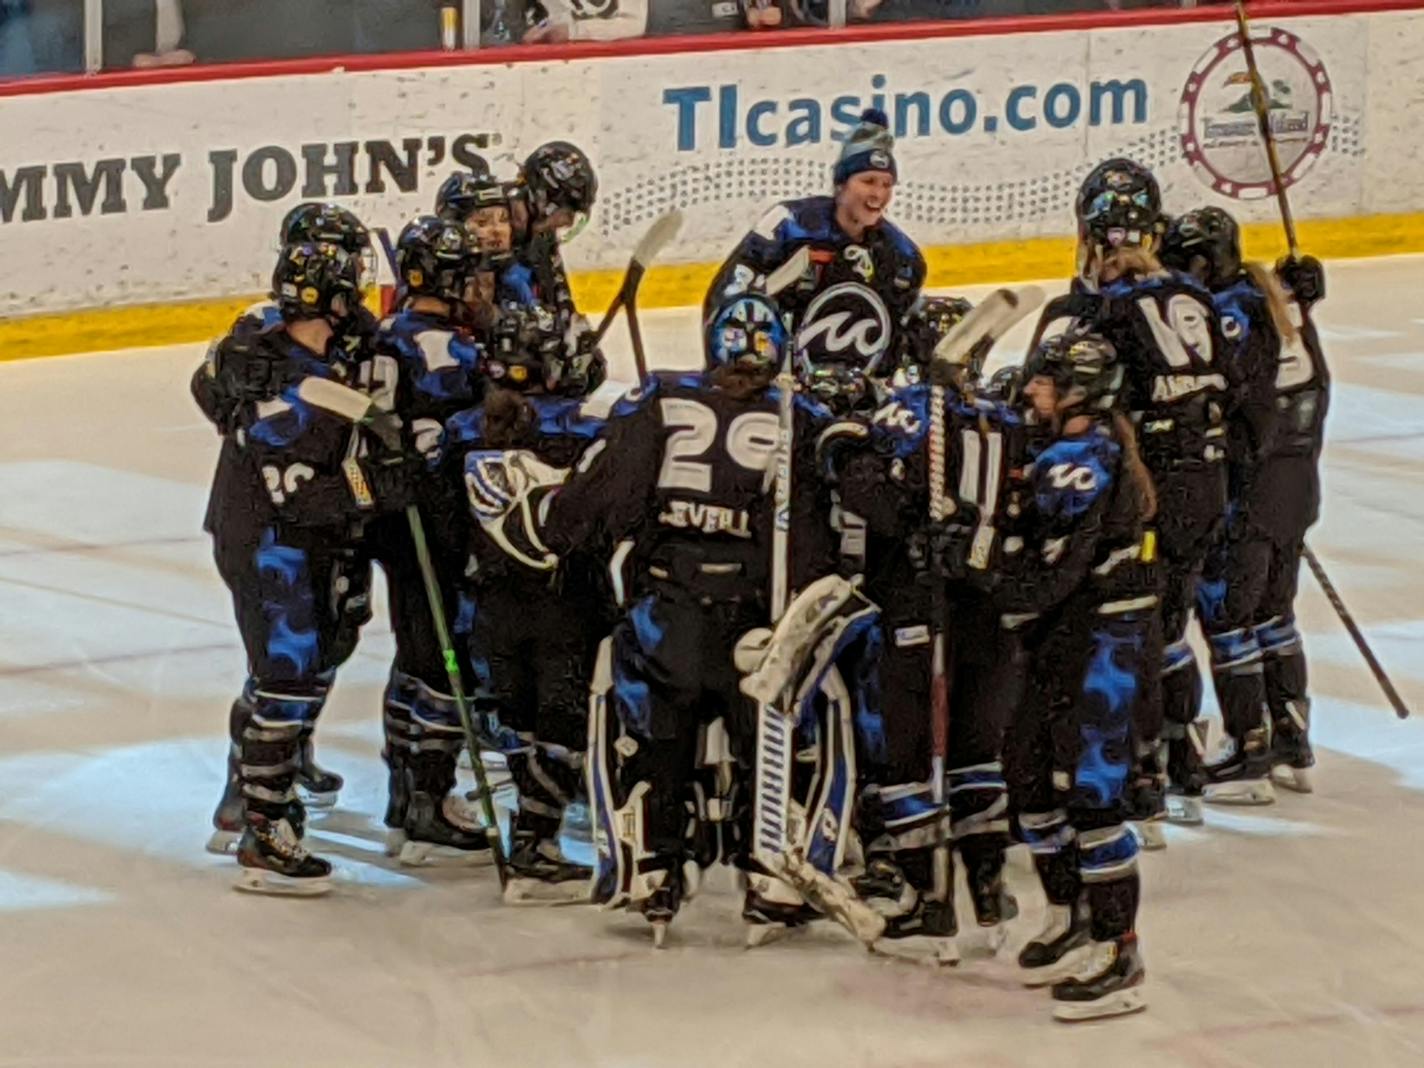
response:
[[[1162,262],[1195,276],[1212,292],[1230,349],[1233,397],[1227,412],[1230,503],[1196,591],[1210,646],[1212,679],[1229,750],[1205,769],[1212,800],[1266,803],[1270,748],[1266,682],[1255,624],[1270,574],[1270,517],[1256,504],[1276,426],[1276,379],[1282,345],[1294,340],[1284,296],[1266,268],[1242,262],[1236,221],[1220,208],[1199,208],[1172,221]]]

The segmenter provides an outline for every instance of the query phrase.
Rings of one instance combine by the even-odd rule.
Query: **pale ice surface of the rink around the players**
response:
[[[1424,716],[1424,258],[1331,263],[1329,283],[1312,544]],[[699,359],[695,312],[644,319],[655,365]],[[638,917],[397,869],[383,602],[316,736],[347,778],[309,827],[335,891],[235,893],[204,852],[244,656],[201,530],[202,352],[0,363],[0,1065],[1424,1064],[1424,719],[1396,719],[1309,575],[1317,792],[1212,807],[1143,854],[1145,1014],[1065,1027],[1017,985],[1042,907],[1018,859],[1008,946],[947,971],[830,924],[746,951],[726,873],[655,953]]]

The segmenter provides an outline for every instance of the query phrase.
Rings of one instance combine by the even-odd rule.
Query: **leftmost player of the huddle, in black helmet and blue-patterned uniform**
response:
[[[360,273],[357,258],[336,245],[286,246],[272,278],[281,322],[235,329],[209,353],[216,377],[242,367],[249,390],[231,416],[206,521],[248,652],[232,709],[245,890],[330,889],[330,864],[300,842],[293,786],[303,742],[366,618],[365,605],[347,602],[365,595],[349,581],[352,548],[366,523],[406,500],[410,464],[365,459],[350,419],[310,399],[310,382],[355,377],[339,339],[360,299]]]

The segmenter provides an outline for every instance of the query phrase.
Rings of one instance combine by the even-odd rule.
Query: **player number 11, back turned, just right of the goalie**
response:
[[[924,349],[910,366],[928,365],[928,352],[957,322],[956,308],[928,309],[934,319],[913,330]],[[1012,457],[1018,451],[1021,420],[1001,404],[977,400],[968,387],[983,353],[953,369],[927,367],[946,392],[946,471],[950,491],[958,491],[961,511],[977,515],[973,535],[980,567],[1000,554],[995,525],[1007,496]],[[965,881],[981,927],[997,943],[1001,923],[1015,907],[1004,890],[1004,850],[1008,844],[1008,803],[1000,763],[1004,726],[1018,686],[1021,662],[1017,638],[1001,628],[1000,612],[963,581],[948,585],[948,611],[933,592],[934,584],[957,577],[933,571],[927,530],[930,511],[928,431],[931,389],[918,383],[896,390],[876,412],[869,447],[839,450],[837,487],[842,530],[863,525],[866,595],[881,605],[883,652],[879,664],[879,716],[862,716],[871,783],[862,796],[866,842],[863,893],[901,897],[903,911],[890,917],[886,936],[933,940],[941,961],[957,957],[953,871],[936,873],[936,847],[943,817],[931,780],[931,641],[947,631],[947,674],[953,678],[948,706],[944,795],[948,830],[965,869]],[[834,446],[844,424],[822,436],[823,450]],[[854,427],[847,437],[854,439]],[[961,517],[963,518],[963,517]],[[909,540],[907,531],[917,531]],[[846,545],[843,540],[843,547]],[[934,618],[938,604],[943,618]],[[869,736],[864,736],[869,735]],[[994,946],[997,948],[997,946]]]

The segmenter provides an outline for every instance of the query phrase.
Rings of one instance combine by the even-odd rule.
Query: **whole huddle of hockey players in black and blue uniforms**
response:
[[[1034,295],[921,295],[884,218],[886,127],[864,112],[833,194],[733,249],[701,369],[621,396],[560,258],[597,195],[575,147],[451,175],[394,242],[380,322],[366,228],[288,215],[272,300],[192,383],[222,434],[205,525],[249,664],[209,842],[241,889],[330,889],[303,829],[342,780],[312,735],[379,564],[400,863],[494,860],[507,901],[622,904],[659,946],[726,863],[749,944],[830,920],[953,963],[961,924],[1002,941],[1021,842],[1048,901],[1025,983],[1061,1020],[1143,1007],[1139,844],[1203,797],[1310,789],[1293,600],[1323,273],[1243,263],[1230,215],[1168,216],[1109,159],[1078,194],[1069,292],[987,376]],[[486,789],[457,787],[463,749]],[[561,847],[582,806],[592,867]]]

